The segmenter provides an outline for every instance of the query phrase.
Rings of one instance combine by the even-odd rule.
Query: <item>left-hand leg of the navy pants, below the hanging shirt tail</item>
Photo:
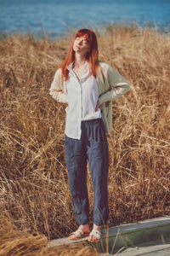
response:
[[[87,154],[83,140],[65,136],[65,160],[77,224],[88,224]]]

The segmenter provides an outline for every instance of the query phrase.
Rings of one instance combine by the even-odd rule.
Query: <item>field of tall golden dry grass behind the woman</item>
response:
[[[97,36],[99,59],[131,84],[113,102],[109,225],[169,214],[170,35],[108,26]],[[0,214],[16,230],[48,239],[77,228],[65,167],[65,106],[48,95],[71,39],[72,32],[56,41],[32,34],[0,40]],[[92,224],[92,200],[90,216]]]

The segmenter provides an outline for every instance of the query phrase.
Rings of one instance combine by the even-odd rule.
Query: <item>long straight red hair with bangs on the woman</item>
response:
[[[82,28],[77,32],[75,35],[74,39],[71,42],[71,47],[68,50],[68,53],[65,57],[65,60],[62,62],[59,68],[61,68],[62,71],[62,78],[65,80],[68,80],[69,76],[69,71],[67,67],[75,61],[75,52],[73,50],[73,44],[76,38],[79,37],[85,37],[86,40],[88,41],[88,44],[90,45],[90,52],[86,56],[86,60],[89,63],[89,69],[90,69],[90,74],[93,74],[94,77],[96,77],[97,69],[99,67],[99,51],[98,51],[98,42],[96,35],[93,31],[87,29],[87,28]]]

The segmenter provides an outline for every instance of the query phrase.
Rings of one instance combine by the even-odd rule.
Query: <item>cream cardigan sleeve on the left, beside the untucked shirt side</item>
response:
[[[58,69],[54,74],[54,80],[50,86],[49,95],[57,102],[68,103],[67,95],[63,91],[61,69]]]

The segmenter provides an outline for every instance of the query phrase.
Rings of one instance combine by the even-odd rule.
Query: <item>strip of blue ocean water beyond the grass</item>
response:
[[[170,0],[0,0],[0,32],[42,31],[135,23],[170,31]]]

